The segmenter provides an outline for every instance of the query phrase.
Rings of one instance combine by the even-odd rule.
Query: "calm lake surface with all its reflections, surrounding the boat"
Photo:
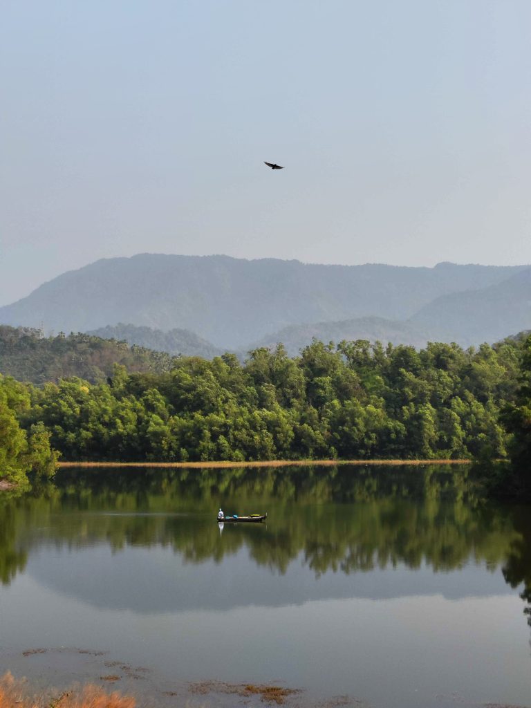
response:
[[[65,470],[0,498],[0,670],[527,705],[531,508],[481,501],[468,474]],[[268,521],[219,529],[220,505]]]

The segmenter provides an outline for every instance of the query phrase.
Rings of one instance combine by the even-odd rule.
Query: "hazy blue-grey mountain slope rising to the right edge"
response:
[[[421,328],[430,326],[439,338],[464,346],[531,329],[531,268],[481,290],[439,297],[409,322]]]

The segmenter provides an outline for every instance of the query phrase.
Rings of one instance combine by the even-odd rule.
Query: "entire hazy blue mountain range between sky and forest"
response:
[[[92,331],[207,356],[277,341],[296,353],[313,336],[469,346],[531,328],[531,266],[317,265],[142,253],[59,275],[1,307],[0,324]]]

